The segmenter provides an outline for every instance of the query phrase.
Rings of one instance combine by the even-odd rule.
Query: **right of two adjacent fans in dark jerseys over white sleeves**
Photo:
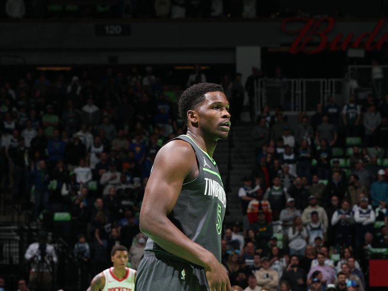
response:
[[[366,232],[373,233],[373,223],[376,220],[374,211],[368,207],[368,198],[363,197],[360,200],[360,207],[356,209],[354,220],[356,222],[356,247],[359,247],[364,239]]]

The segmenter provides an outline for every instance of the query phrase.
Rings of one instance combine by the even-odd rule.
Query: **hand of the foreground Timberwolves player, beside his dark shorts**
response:
[[[209,282],[210,291],[232,291],[225,267],[215,258],[210,267],[205,269],[205,274]]]

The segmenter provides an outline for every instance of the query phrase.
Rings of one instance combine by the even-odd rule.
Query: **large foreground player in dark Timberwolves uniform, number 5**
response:
[[[230,291],[221,265],[226,197],[216,162],[217,141],[230,129],[221,86],[199,83],[179,99],[187,134],[158,152],[140,212],[148,237],[136,291]]]

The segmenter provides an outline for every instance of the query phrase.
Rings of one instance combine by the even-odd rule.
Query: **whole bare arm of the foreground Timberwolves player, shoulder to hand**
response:
[[[188,143],[172,141],[163,146],[147,182],[140,212],[140,230],[167,252],[203,266],[209,272],[210,287],[213,284],[220,286],[210,290],[230,290],[226,272],[214,255],[187,238],[167,218],[177,202],[182,184],[194,180],[197,173],[195,153]]]

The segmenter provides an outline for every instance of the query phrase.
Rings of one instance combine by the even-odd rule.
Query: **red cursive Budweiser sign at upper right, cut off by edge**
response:
[[[289,27],[291,23],[295,22],[302,22],[304,26],[297,30],[291,30]],[[289,18],[283,21],[281,29],[283,32],[297,35],[290,47],[290,52],[293,54],[298,52],[314,54],[324,49],[332,51],[357,48],[380,50],[388,38],[388,33],[383,33],[380,37],[377,37],[385,22],[384,19],[379,20],[372,32],[363,32],[359,35],[355,35],[355,33],[347,35],[338,33],[331,41],[328,40],[327,35],[334,28],[335,20],[333,17]],[[314,47],[311,48],[311,46]]]

